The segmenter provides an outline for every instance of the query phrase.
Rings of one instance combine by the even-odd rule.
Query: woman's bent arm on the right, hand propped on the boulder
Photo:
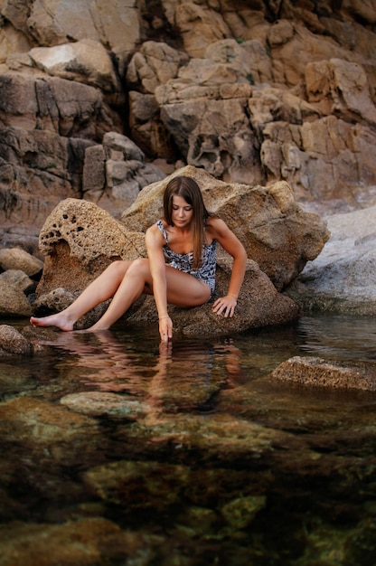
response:
[[[233,231],[225,222],[219,218],[210,219],[211,235],[221,244],[233,259],[230,285],[227,295],[218,298],[213,305],[213,311],[217,315],[223,314],[226,318],[233,316],[237,304],[240,288],[244,280],[244,274],[247,266],[247,252],[243,244],[238,240]]]

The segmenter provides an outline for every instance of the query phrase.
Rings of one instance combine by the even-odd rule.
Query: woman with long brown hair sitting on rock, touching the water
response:
[[[155,297],[159,333],[165,342],[173,335],[168,303],[198,307],[212,297],[217,241],[232,256],[233,266],[228,293],[214,302],[213,311],[233,316],[246,268],[246,251],[225,222],[206,210],[198,184],[191,177],[176,176],[164,190],[164,219],[146,231],[148,258],[114,261],[69,307],[51,316],[32,316],[31,323],[72,330],[80,316],[113,297],[104,315],[89,328],[107,330],[146,293]]]

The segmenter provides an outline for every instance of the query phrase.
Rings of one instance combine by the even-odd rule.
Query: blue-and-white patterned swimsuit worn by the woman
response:
[[[166,263],[174,269],[184,271],[193,275],[196,279],[200,279],[206,283],[211,289],[211,297],[215,288],[215,267],[216,267],[216,244],[215,240],[210,244],[203,244],[202,246],[202,266],[199,269],[193,269],[193,252],[190,253],[176,253],[168,247],[168,236],[164,230],[164,225],[161,220],[156,222],[157,227],[162,232],[165,245],[164,245],[164,258]]]

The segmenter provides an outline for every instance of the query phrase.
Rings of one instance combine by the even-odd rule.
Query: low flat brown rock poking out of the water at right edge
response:
[[[368,363],[327,362],[311,356],[290,358],[278,365],[270,378],[300,385],[376,391],[376,367]]]

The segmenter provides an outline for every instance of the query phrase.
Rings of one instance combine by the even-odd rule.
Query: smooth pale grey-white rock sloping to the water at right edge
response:
[[[302,312],[376,313],[376,206],[326,217],[331,237],[309,261],[287,295]]]

